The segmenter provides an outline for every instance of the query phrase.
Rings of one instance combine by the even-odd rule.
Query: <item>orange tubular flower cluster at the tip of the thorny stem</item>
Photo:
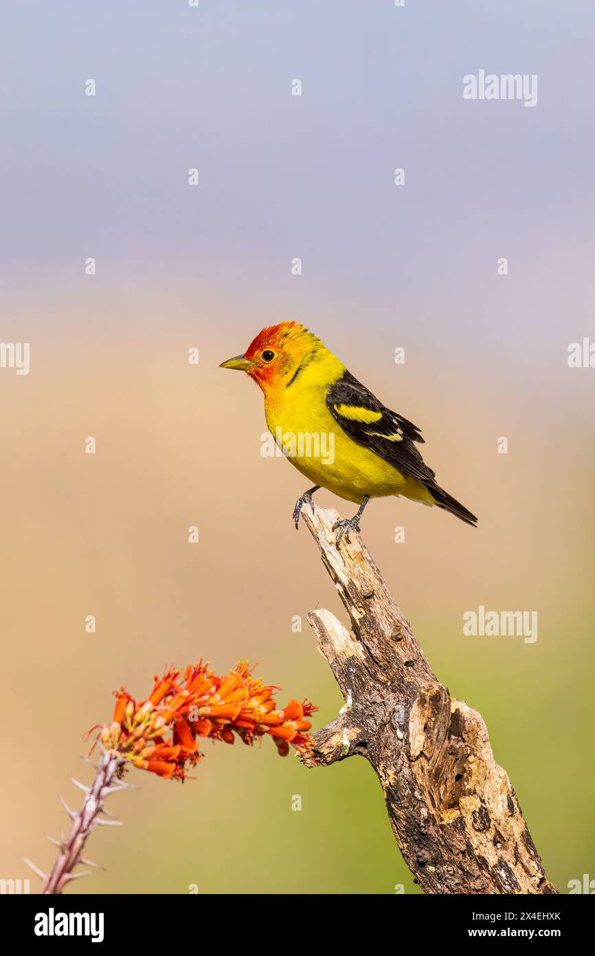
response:
[[[99,729],[98,739],[135,767],[179,780],[186,766],[201,759],[201,737],[233,744],[237,734],[251,745],[269,734],[282,756],[289,744],[311,748],[306,718],[317,708],[308,701],[289,701],[277,710],[274,689],[253,679],[242,661],[226,677],[218,677],[202,661],[183,674],[170,669],[155,678],[146,701],[134,701],[123,687],[117,690],[112,723]]]

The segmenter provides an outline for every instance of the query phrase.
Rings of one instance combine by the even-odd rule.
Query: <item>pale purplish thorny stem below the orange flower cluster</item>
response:
[[[102,750],[99,763],[96,768],[96,778],[91,787],[81,788],[85,792],[82,806],[77,813],[70,811],[64,804],[67,813],[71,816],[73,825],[67,839],[62,840],[58,846],[60,853],[53,864],[52,872],[43,882],[42,894],[60,894],[69,880],[76,880],[78,877],[86,876],[89,871],[74,873],[74,867],[78,863],[90,864],[88,860],[81,857],[83,847],[87,837],[96,828],[97,824],[114,824],[120,821],[99,819],[100,813],[105,813],[103,803],[106,797],[113,793],[111,785],[117,774],[117,769],[123,763],[122,758],[113,750]],[[78,786],[81,786],[78,784]],[[117,790],[123,790],[126,784],[117,784]]]

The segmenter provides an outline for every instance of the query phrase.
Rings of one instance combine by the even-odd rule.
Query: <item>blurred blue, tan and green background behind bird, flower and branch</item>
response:
[[[78,805],[67,776],[89,779],[82,735],[120,684],[142,698],[165,664],[247,657],[320,706],[314,727],[341,706],[306,621],[345,616],[291,523],[305,482],[262,457],[262,396],[218,368],[296,319],[478,514],[386,499],[364,536],[485,719],[549,878],[594,878],[595,370],[567,348],[595,340],[595,10],[32,0],[1,33],[1,336],[31,343],[31,371],[0,369],[0,877],[33,891],[22,856],[51,866],[57,796]],[[538,75],[537,106],[464,100],[479,69]],[[463,637],[481,604],[537,611],[538,640]],[[205,751],[183,786],[130,774],[126,826],[89,844],[107,872],[70,892],[417,892],[364,760]]]

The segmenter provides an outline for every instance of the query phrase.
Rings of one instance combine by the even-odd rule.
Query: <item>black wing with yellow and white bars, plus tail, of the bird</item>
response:
[[[429,468],[414,445],[423,443],[417,425],[383,405],[372,392],[346,371],[329,387],[329,412],[343,430],[360,445],[370,448],[402,474],[417,478],[430,491],[436,505],[470,525],[475,514],[436,484],[436,472]]]

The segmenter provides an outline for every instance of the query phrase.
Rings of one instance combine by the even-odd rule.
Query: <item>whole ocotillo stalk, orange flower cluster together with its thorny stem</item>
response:
[[[127,766],[183,780],[187,767],[202,758],[201,737],[233,744],[234,734],[248,745],[268,734],[282,756],[289,744],[309,750],[307,718],[316,707],[308,701],[289,701],[278,710],[274,689],[254,679],[245,662],[218,677],[201,661],[183,672],[170,668],[156,677],[146,700],[136,702],[123,687],[117,690],[112,722],[94,728],[101,754],[93,785],[86,787],[71,777],[85,794],[82,807],[74,812],[62,801],[73,821],[70,835],[59,840],[48,837],[59,849],[52,872],[46,875],[26,859],[43,880],[42,893],[62,893],[69,880],[85,876],[88,871],[74,873],[78,863],[96,866],[82,857],[82,851],[96,826],[119,824],[101,815],[112,816],[104,809],[107,796],[129,786],[122,780]]]

